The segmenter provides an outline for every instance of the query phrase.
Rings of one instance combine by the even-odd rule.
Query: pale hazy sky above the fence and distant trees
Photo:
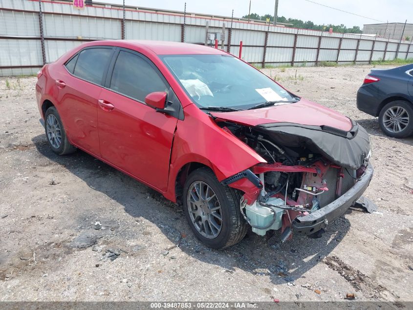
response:
[[[313,0],[328,6],[370,17],[380,21],[413,23],[413,0]],[[97,0],[97,2],[122,3],[122,0]],[[248,14],[249,0],[125,0],[127,5],[184,10],[204,14],[241,17]],[[279,0],[279,16],[311,20],[315,24],[345,24],[346,26],[380,23],[344,12],[310,3],[305,0]],[[251,13],[274,14],[273,0],[252,0]],[[410,20],[409,20],[410,18]]]

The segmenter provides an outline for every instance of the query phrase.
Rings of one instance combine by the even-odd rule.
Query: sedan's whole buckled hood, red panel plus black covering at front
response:
[[[306,147],[339,166],[358,169],[370,154],[366,130],[344,115],[317,103],[299,102],[236,112],[214,112],[216,122],[254,127],[286,147]]]

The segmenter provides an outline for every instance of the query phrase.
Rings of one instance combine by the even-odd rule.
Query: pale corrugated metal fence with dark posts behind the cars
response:
[[[165,14],[139,10],[87,6],[37,0],[0,0],[0,76],[33,74],[44,63],[83,42],[102,39],[166,40],[203,43],[205,28],[222,32],[224,49],[250,63],[273,66],[314,66],[322,61],[369,64],[376,60],[413,58],[412,42],[360,37],[307,29],[277,27]],[[231,26],[232,25],[232,26]]]

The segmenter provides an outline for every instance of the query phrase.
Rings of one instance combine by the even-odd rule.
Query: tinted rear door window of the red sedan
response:
[[[102,85],[103,74],[108,68],[111,55],[112,48],[84,49],[79,53],[73,74],[81,79]],[[70,62],[66,64],[66,67]]]

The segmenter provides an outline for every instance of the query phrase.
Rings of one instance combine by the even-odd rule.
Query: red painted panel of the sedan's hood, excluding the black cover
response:
[[[353,126],[348,117],[303,98],[296,103],[255,110],[211,112],[211,114],[219,119],[249,126],[269,123],[295,123],[309,126],[324,125],[343,131],[349,131]]]

